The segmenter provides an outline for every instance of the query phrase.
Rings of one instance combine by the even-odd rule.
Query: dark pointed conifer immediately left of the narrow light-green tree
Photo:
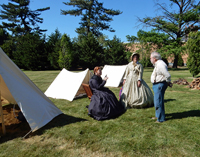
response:
[[[48,69],[59,69],[59,49],[60,49],[60,40],[61,33],[58,29],[55,30],[55,33],[51,33],[48,37],[48,41],[46,43],[46,51],[48,54],[49,68]]]

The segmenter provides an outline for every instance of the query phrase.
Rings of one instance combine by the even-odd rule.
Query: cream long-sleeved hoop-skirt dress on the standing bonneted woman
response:
[[[143,67],[139,62],[133,64],[130,62],[126,68],[124,79],[126,82],[120,97],[120,103],[127,108],[145,108],[152,107],[153,93],[149,86],[142,79]],[[141,81],[141,86],[138,87],[138,80]]]

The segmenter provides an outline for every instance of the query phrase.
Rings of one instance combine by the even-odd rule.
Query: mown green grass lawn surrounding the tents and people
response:
[[[143,79],[152,88],[152,68]],[[24,71],[45,92],[59,71]],[[172,81],[193,80],[186,68],[169,69]],[[110,88],[118,97],[119,88]],[[87,115],[87,97],[51,99],[64,113],[26,139],[0,138],[0,156],[200,156],[200,91],[174,85],[165,93],[167,121],[154,123],[154,107],[129,109],[122,116],[96,121]]]

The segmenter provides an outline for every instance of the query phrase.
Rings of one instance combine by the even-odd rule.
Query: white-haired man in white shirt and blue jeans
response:
[[[153,83],[154,106],[156,110],[155,117],[152,117],[152,119],[157,119],[156,123],[161,123],[165,121],[164,94],[168,86],[172,87],[171,75],[158,52],[152,52],[150,59],[154,65],[151,83]]]

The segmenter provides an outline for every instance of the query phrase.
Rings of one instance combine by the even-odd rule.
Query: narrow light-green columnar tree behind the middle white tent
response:
[[[72,53],[72,42],[70,37],[66,34],[63,34],[60,41],[60,50],[59,50],[59,66],[60,68],[71,68],[71,62],[73,58],[71,57]]]

